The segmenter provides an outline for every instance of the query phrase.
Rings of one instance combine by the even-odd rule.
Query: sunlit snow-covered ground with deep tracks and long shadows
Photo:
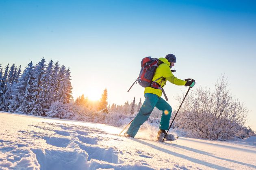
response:
[[[126,120],[128,123],[129,120]],[[256,137],[157,142],[122,127],[0,112],[0,169],[256,169]]]

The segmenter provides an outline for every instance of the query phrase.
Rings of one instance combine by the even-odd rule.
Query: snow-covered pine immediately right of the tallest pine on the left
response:
[[[42,90],[39,91],[39,104],[42,107],[42,115],[45,116],[45,112],[50,108],[52,103],[52,93],[53,93],[53,61],[50,60],[48,65],[46,66],[46,71],[42,75],[41,84]]]

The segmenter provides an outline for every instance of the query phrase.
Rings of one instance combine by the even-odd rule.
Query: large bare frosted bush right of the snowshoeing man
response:
[[[211,140],[226,140],[243,130],[248,109],[232,97],[227,84],[222,76],[213,90],[199,87],[191,91],[176,117],[176,127]],[[177,97],[180,102],[183,98]]]

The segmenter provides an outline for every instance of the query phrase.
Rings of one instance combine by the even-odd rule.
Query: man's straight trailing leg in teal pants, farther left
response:
[[[159,97],[156,94],[145,94],[145,101],[126,132],[128,135],[134,137],[137,134],[139,127],[148,119],[158,99]]]

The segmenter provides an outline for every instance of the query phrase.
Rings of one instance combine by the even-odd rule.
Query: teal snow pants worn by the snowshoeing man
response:
[[[139,127],[148,120],[151,112],[153,111],[154,107],[162,110],[162,117],[160,121],[159,129],[168,130],[169,128],[169,121],[171,118],[171,106],[161,97],[158,97],[156,94],[145,93],[145,101],[139,110],[139,113],[133,119],[129,129],[127,130],[127,134],[134,137],[137,132],[139,131]],[[167,110],[167,111],[165,111]]]

